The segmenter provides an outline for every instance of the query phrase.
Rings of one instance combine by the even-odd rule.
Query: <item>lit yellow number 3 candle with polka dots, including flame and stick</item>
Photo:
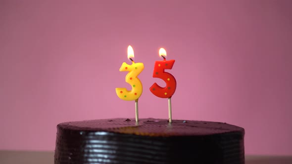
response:
[[[128,46],[128,59],[132,61],[131,65],[123,63],[120,71],[129,71],[126,75],[126,82],[132,86],[132,90],[127,90],[126,88],[116,88],[116,93],[118,97],[122,100],[133,101],[135,100],[135,112],[136,112],[136,122],[138,122],[138,99],[142,94],[143,87],[141,81],[138,79],[138,75],[143,71],[143,63],[135,63],[134,60],[134,50],[131,45]]]

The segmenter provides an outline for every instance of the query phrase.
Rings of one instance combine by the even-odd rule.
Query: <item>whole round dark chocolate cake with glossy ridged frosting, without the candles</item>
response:
[[[244,129],[162,119],[59,123],[54,164],[244,164]]]

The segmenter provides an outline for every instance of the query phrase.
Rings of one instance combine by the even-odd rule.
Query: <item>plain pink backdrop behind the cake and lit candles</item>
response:
[[[292,155],[291,0],[0,0],[0,149],[54,150],[57,123],[135,118],[127,46],[143,62],[140,118],[168,118],[149,91],[176,62],[173,119],[245,128],[246,154]]]

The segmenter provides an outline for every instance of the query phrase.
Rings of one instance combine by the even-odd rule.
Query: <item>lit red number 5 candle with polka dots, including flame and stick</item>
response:
[[[168,98],[168,115],[169,122],[171,123],[171,96],[176,89],[176,80],[170,73],[167,73],[164,70],[172,69],[175,60],[166,60],[166,51],[164,48],[159,49],[159,56],[163,58],[163,61],[155,61],[153,78],[162,79],[166,83],[166,86],[161,87],[155,82],[150,87],[150,91],[157,97]]]

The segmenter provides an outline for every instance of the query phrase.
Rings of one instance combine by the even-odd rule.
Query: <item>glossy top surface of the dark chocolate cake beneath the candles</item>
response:
[[[145,136],[194,136],[213,135],[228,132],[244,134],[242,127],[219,122],[173,120],[165,119],[103,119],[59,123],[58,128],[76,130],[79,132],[114,132]]]

